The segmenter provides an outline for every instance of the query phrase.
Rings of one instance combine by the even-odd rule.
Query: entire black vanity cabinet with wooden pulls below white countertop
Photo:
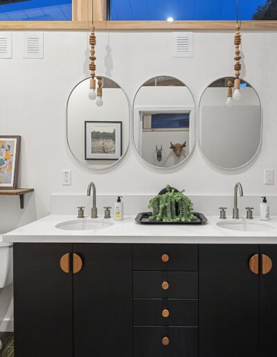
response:
[[[16,357],[276,357],[277,245],[14,244]]]

